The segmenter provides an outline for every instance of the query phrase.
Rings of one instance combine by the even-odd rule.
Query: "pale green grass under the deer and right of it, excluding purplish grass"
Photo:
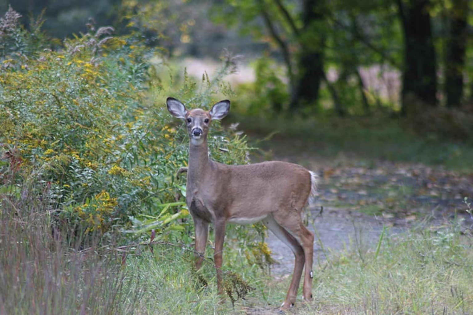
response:
[[[315,266],[314,302],[299,299],[289,314],[471,314],[473,311],[472,235],[460,225],[411,230],[379,239],[376,251],[357,248],[332,253]],[[146,287],[140,300],[142,314],[278,314],[289,280],[274,281],[248,272],[243,274],[254,290],[232,307],[229,298],[219,304],[211,264],[204,278],[209,287],[199,289],[189,262],[168,249],[143,255],[129,265],[142,274]],[[227,268],[229,268],[227,266]],[[197,285],[197,286],[196,286]],[[144,302],[146,301],[146,302]]]

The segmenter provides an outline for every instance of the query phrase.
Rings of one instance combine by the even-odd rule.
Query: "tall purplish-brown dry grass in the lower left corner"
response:
[[[37,200],[3,195],[1,206],[1,314],[132,313],[121,301],[140,291],[126,289],[132,280],[115,257],[71,248]]]

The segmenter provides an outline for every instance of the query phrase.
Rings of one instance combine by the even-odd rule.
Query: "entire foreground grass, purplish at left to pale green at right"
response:
[[[229,250],[225,270],[253,290],[234,306],[228,297],[220,303],[210,259],[196,275],[188,247],[72,250],[47,220],[44,213],[1,218],[2,315],[277,314],[289,285]],[[331,253],[315,265],[314,302],[299,300],[289,314],[471,314],[472,245],[471,227],[458,221],[398,235],[386,230],[376,250]]]

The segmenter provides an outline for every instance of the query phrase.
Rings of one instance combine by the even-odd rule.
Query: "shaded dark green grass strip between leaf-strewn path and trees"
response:
[[[473,144],[445,139],[434,133],[419,135],[401,119],[388,117],[284,119],[233,114],[241,128],[260,137],[258,146],[276,154],[313,154],[330,158],[348,155],[361,160],[419,162],[448,169],[472,171]]]

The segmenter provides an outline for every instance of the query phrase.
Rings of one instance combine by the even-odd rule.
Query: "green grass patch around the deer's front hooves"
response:
[[[260,295],[264,277],[252,275],[258,271],[251,266],[234,264],[231,268],[234,273],[226,268],[224,283],[233,296],[240,293],[245,299],[232,303],[232,298],[226,296],[222,302],[217,294],[213,264],[204,263],[199,272],[194,272],[192,261],[193,253],[166,245],[156,246],[153,253],[147,251],[128,258],[126,270],[140,279],[133,286],[143,291],[135,314],[234,314],[248,305],[248,300]]]

